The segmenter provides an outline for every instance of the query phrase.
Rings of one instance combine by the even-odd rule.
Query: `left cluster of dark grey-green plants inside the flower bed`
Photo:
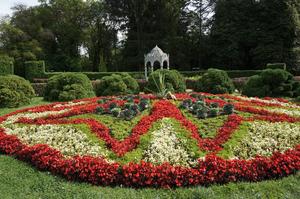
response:
[[[109,102],[105,98],[99,100],[99,104],[109,103],[109,107],[107,109],[103,108],[102,106],[97,107],[96,114],[110,114],[114,117],[123,118],[127,121],[130,121],[142,111],[150,107],[149,99],[141,98],[139,103],[134,103],[133,97],[131,96],[124,96],[120,99],[127,101],[127,103],[125,103],[122,107],[118,106],[115,102]]]

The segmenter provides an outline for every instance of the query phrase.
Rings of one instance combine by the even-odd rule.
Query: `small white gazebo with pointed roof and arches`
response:
[[[145,55],[145,77],[148,80],[148,65],[150,64],[150,71],[154,70],[154,63],[158,62],[160,68],[164,68],[164,63],[167,69],[170,69],[169,55],[164,53],[158,46],[155,46],[150,53]]]

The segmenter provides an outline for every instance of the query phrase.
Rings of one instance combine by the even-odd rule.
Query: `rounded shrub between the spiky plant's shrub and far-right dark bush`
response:
[[[212,94],[233,93],[234,84],[226,71],[208,69],[199,79],[196,91]]]

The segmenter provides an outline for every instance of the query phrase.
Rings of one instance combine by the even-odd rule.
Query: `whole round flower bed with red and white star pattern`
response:
[[[181,187],[300,169],[300,106],[207,93],[101,97],[0,117],[0,152],[69,180]]]

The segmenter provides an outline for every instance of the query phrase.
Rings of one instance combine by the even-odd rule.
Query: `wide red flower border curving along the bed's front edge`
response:
[[[95,185],[130,187],[180,187],[236,181],[261,181],[294,174],[300,169],[300,146],[270,158],[224,160],[214,155],[201,160],[196,168],[174,167],[168,163],[129,163],[120,166],[102,158],[73,157],[64,159],[59,151],[47,145],[26,146],[15,136],[0,134],[0,152],[30,162],[38,169],[51,171],[69,180]]]

